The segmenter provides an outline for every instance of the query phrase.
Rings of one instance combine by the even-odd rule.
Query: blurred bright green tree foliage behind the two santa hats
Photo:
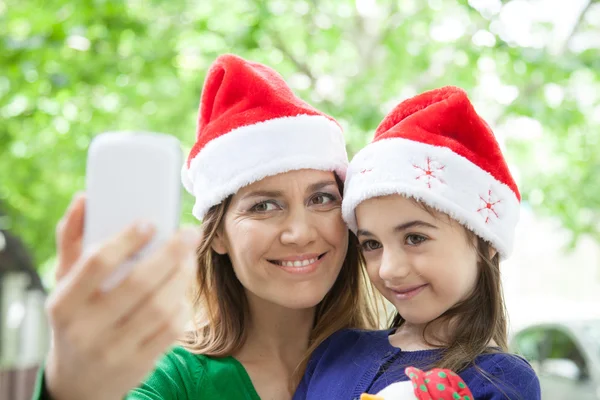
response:
[[[584,4],[562,37],[535,20],[511,38],[517,3],[0,0],[0,223],[50,268],[90,139],[146,129],[191,146],[204,74],[233,52],[338,118],[351,154],[400,100],[465,88],[506,146],[524,201],[574,241],[600,241],[600,7]],[[186,195],[187,222],[191,204]]]

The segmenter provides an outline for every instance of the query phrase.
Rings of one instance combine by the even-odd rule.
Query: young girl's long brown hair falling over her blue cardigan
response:
[[[424,206],[427,211],[434,212]],[[500,256],[485,240],[466,230],[469,243],[477,243],[478,277],[471,295],[444,314],[429,322],[423,330],[425,343],[444,348],[441,359],[431,367],[447,368],[460,372],[475,365],[477,356],[491,352],[508,351],[507,315],[500,280]],[[490,255],[493,256],[490,258]],[[391,328],[398,328],[404,318],[398,313],[393,317]],[[428,329],[432,324],[451,324],[448,337],[433,337],[428,340]],[[490,343],[497,347],[490,347]]]

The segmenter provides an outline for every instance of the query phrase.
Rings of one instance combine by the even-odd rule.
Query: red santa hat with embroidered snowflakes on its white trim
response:
[[[443,87],[408,99],[381,122],[348,168],[342,213],[402,194],[448,214],[506,258],[521,197],[494,134],[464,90]]]

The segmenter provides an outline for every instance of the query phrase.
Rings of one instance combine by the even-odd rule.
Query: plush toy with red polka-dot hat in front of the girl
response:
[[[474,400],[465,382],[450,370],[408,367],[405,373],[409,381],[392,383],[376,395],[363,394],[360,400]]]

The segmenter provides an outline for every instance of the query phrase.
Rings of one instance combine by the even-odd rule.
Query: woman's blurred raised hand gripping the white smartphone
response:
[[[85,198],[75,197],[57,228],[46,385],[56,400],[121,399],[183,332],[199,236],[194,229],[177,232],[118,286],[102,292],[102,282],[148,243],[153,229],[131,226],[83,255],[84,209]]]

